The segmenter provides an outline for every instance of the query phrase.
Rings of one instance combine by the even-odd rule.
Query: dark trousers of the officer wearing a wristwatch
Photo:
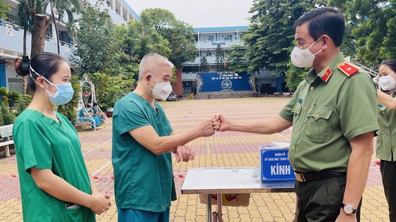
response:
[[[339,216],[344,198],[347,175],[306,183],[296,181],[296,218],[297,222],[329,222]],[[345,203],[347,204],[347,203]],[[360,221],[361,201],[356,212]]]

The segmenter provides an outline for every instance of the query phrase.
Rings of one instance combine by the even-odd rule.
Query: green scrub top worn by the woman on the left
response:
[[[91,181],[81,153],[81,144],[70,121],[55,113],[59,123],[38,111],[25,109],[13,125],[23,221],[95,221],[95,213],[85,206],[72,205],[52,197],[37,187],[30,168],[50,169],[78,190],[91,194]]]

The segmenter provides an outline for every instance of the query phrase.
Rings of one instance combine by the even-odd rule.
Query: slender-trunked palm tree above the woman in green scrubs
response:
[[[58,54],[60,54],[57,20],[62,21],[66,13],[67,17],[69,18],[67,26],[71,27],[71,25],[74,23],[73,13],[80,12],[80,3],[78,0],[43,0],[43,2],[45,8],[47,8],[48,4],[50,4],[52,21],[54,22],[55,32],[57,33]],[[58,15],[58,19],[55,18],[55,11]]]

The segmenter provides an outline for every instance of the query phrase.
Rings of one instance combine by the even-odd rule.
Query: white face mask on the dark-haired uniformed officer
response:
[[[320,49],[315,54],[310,52],[309,49],[316,42],[318,42],[320,38],[318,38],[318,40],[316,40],[313,44],[311,44],[307,49],[300,49],[298,47],[294,47],[293,51],[291,51],[291,54],[290,54],[291,63],[293,63],[294,66],[297,66],[299,68],[312,67],[313,61],[315,60],[315,55],[320,53],[320,51],[322,51],[322,49]]]

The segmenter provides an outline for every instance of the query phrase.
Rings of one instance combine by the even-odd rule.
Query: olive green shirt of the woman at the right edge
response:
[[[392,97],[395,98],[396,94]],[[377,147],[375,154],[378,159],[396,161],[396,110],[388,109],[383,104],[378,104],[378,130]]]

